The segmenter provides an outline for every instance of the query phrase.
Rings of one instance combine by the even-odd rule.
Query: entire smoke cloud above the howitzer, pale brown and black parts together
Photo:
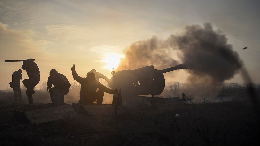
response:
[[[146,41],[131,44],[125,50],[125,59],[118,67],[136,69],[154,65],[164,69],[184,63],[192,67],[187,70],[190,83],[223,83],[231,79],[241,69],[243,62],[227,38],[220,31],[214,31],[210,23],[204,26],[186,26],[181,35],[171,35],[167,40],[153,36]],[[179,61],[174,60],[173,50],[178,51]]]

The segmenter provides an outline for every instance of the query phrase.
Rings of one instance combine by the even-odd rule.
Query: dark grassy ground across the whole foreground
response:
[[[123,116],[80,115],[40,126],[13,119],[12,109],[27,106],[0,103],[0,145],[259,144],[256,113],[246,102],[178,103],[157,110],[137,104]]]

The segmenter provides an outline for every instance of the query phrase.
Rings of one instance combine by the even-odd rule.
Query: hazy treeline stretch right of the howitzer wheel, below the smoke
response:
[[[195,100],[218,99],[220,101],[227,100],[244,100],[248,94],[248,88],[252,87],[257,96],[260,94],[260,83],[224,83],[222,85],[213,84],[189,84],[180,82],[166,82],[162,97],[178,96],[181,97],[182,92],[187,97]]]

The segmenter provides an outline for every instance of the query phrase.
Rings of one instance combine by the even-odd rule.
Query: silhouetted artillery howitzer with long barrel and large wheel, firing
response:
[[[157,70],[153,65],[147,67],[122,70],[118,72],[112,71],[112,77],[108,81],[109,87],[112,89],[122,90],[122,97],[137,95],[159,95],[165,87],[164,73],[177,69],[190,69],[184,64],[179,64],[175,67]]]

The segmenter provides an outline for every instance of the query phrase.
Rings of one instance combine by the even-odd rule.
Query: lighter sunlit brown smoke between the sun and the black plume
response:
[[[165,69],[178,65],[171,57],[172,49],[165,40],[156,36],[145,41],[138,41],[125,49],[125,58],[119,63],[117,70],[137,69],[154,65],[155,69]]]

